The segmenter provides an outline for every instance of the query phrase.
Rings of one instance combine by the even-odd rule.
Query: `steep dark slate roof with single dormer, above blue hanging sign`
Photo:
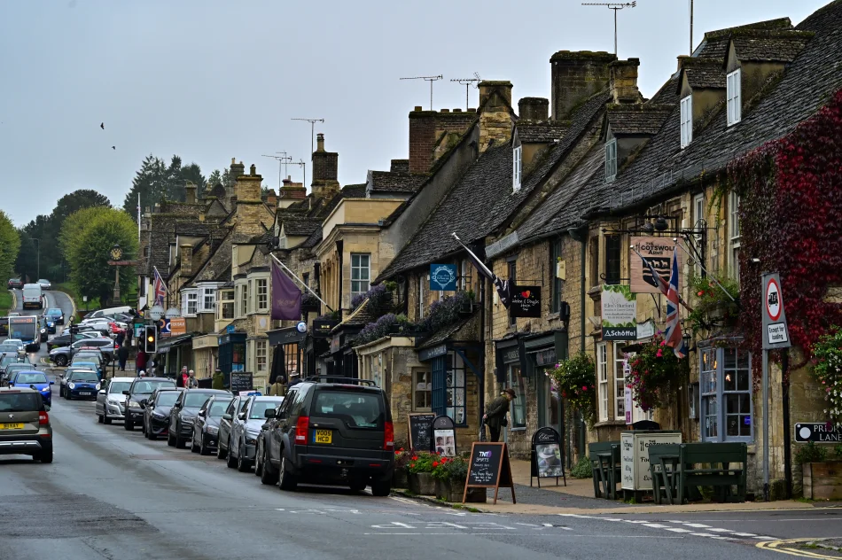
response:
[[[607,91],[598,93],[573,113],[568,133],[561,141],[550,145],[546,156],[517,192],[511,188],[511,144],[488,149],[440,200],[375,282],[461,252],[462,246],[450,235],[454,231],[465,244],[470,245],[498,229],[564,158],[610,98]]]

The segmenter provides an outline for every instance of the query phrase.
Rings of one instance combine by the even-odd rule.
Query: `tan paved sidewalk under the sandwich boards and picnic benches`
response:
[[[486,503],[468,503],[465,507],[477,509],[484,513],[519,513],[532,515],[633,515],[647,513],[692,513],[698,511],[751,511],[760,509],[813,509],[813,504],[785,500],[779,502],[744,502],[718,503],[698,502],[682,505],[660,505],[657,503],[629,504],[620,501],[604,500],[594,497],[594,483],[591,478],[567,477],[564,479],[542,478],[541,488],[538,479],[533,478],[533,486],[529,486],[531,465],[528,461],[511,460],[511,475],[515,483],[515,498],[517,503],[511,503],[511,490],[501,487],[494,504],[494,488],[487,491]],[[397,490],[399,494],[406,495]],[[416,499],[438,502],[430,496],[411,496]],[[461,505],[461,504],[460,504]]]

